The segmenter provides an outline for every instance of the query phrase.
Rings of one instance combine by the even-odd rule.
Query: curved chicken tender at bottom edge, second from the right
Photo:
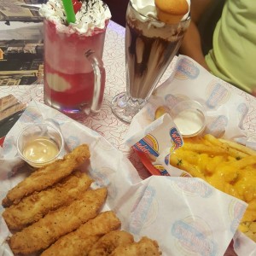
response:
[[[125,230],[113,230],[102,236],[91,248],[88,256],[108,256],[116,247],[134,242],[133,236]]]

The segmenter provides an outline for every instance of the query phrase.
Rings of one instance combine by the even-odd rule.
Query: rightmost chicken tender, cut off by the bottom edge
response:
[[[125,246],[116,247],[113,250],[111,256],[159,256],[161,252],[159,251],[159,246],[157,241],[154,241],[147,236],[143,236],[143,238]]]

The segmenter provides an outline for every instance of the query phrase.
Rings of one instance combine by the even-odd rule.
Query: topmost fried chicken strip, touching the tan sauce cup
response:
[[[67,177],[73,170],[81,166],[85,160],[90,158],[89,147],[82,144],[63,159],[56,160],[48,166],[43,166],[29,177],[18,183],[15,188],[9,190],[2,201],[3,207],[17,204],[24,196],[31,195],[34,191],[41,191]]]

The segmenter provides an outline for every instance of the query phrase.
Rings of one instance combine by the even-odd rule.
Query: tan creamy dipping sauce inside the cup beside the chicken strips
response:
[[[44,163],[55,158],[59,153],[57,144],[46,137],[38,137],[26,143],[23,156],[32,162]]]

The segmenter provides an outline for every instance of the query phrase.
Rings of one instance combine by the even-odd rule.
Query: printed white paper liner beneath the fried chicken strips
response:
[[[163,255],[223,255],[236,233],[247,204],[190,177],[148,177],[142,180],[131,162],[96,131],[42,103],[32,101],[9,131],[1,152],[1,199],[31,170],[16,167],[15,140],[26,125],[51,122],[59,127],[65,147],[62,155],[88,143],[93,187],[108,186],[104,209],[112,209],[135,239],[148,236],[159,242]],[[13,160],[17,162],[12,163]],[[15,171],[14,171],[15,167]],[[13,169],[12,169],[13,168]],[[22,170],[22,172],[21,172]],[[0,212],[4,211],[0,207]],[[7,242],[11,236],[0,221],[0,254],[12,255]],[[242,255],[242,254],[241,254]]]

